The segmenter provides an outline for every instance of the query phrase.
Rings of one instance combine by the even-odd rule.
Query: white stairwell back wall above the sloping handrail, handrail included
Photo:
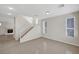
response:
[[[30,21],[29,21],[30,20]],[[29,30],[32,29],[32,17],[17,16],[15,21],[15,39],[21,39]]]

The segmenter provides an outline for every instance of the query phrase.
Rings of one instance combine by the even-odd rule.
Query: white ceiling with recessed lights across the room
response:
[[[79,4],[65,4],[64,7],[59,4],[0,4],[0,16],[37,15],[39,19],[44,19],[78,10]],[[47,11],[49,14],[46,14]]]

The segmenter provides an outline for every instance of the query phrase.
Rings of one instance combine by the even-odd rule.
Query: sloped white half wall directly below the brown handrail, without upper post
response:
[[[20,42],[26,42],[29,40],[37,39],[41,37],[41,27],[36,25],[28,33],[26,33],[21,39]]]

